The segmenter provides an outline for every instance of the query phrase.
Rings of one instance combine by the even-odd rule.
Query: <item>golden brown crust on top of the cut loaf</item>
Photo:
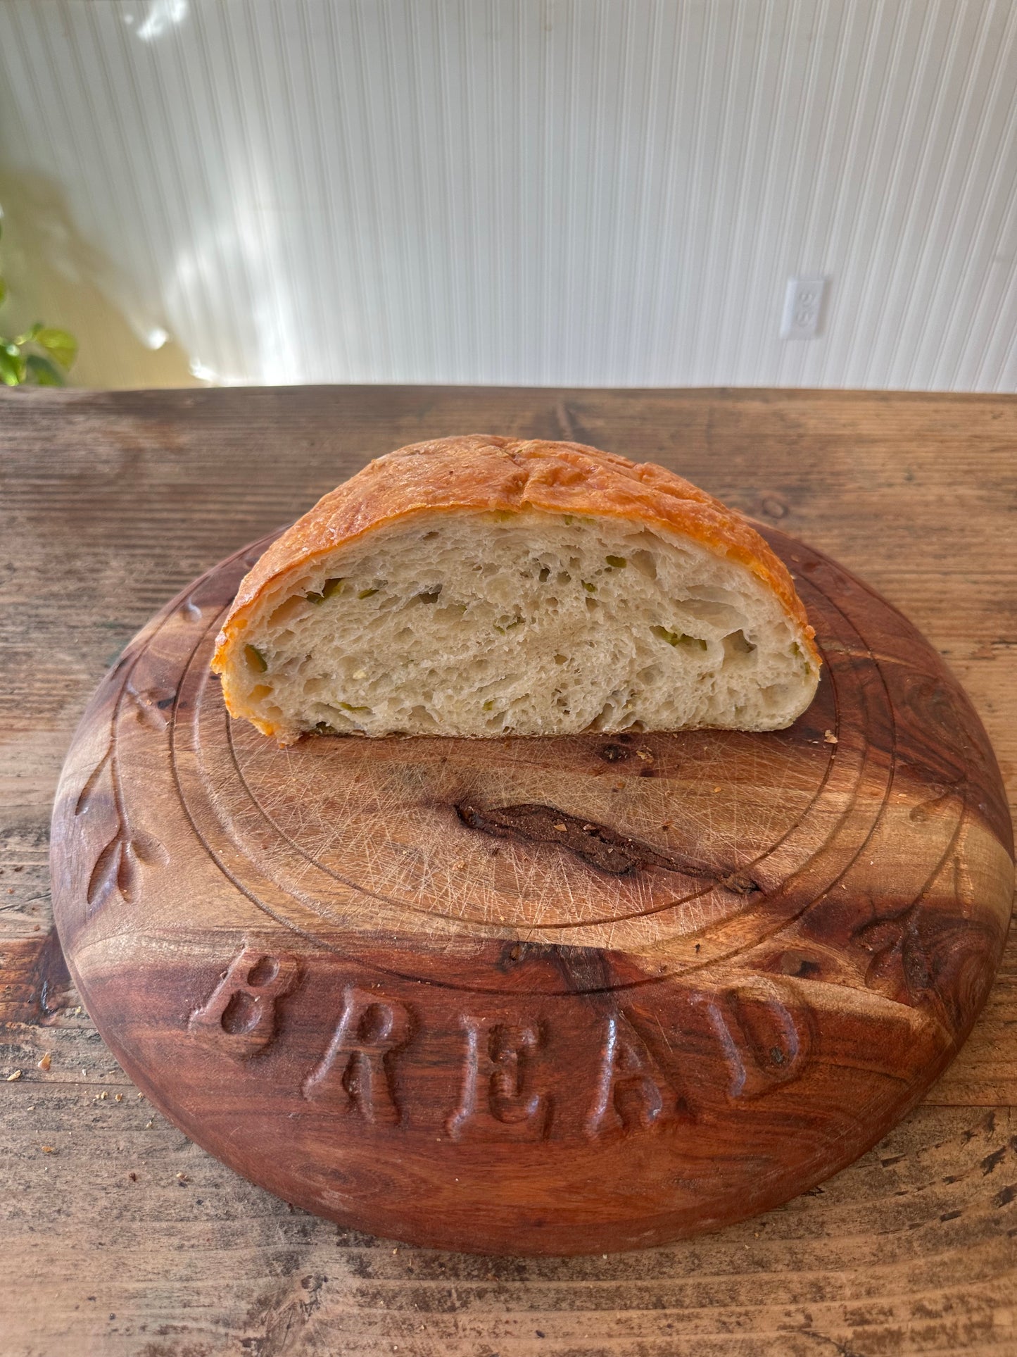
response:
[[[297,520],[240,584],[216,646],[213,669],[239,623],[281,574],[399,518],[442,510],[603,514],[686,533],[747,566],[801,627],[812,658],[815,632],[784,563],[732,509],[652,461],[633,463],[578,442],[466,434],[400,448],[369,463]]]

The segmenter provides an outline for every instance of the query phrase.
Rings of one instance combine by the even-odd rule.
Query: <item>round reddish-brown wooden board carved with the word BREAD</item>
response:
[[[151,1101],[308,1210],[491,1253],[713,1229],[875,1144],[986,999],[1012,826],[936,651],[765,535],[824,661],[766,734],[278,749],[209,672],[271,539],[153,617],[52,848],[71,972]]]

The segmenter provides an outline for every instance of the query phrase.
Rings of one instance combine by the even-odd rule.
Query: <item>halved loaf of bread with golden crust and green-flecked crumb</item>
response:
[[[791,575],[652,463],[487,436],[372,461],[240,585],[213,669],[279,744],[789,726],[819,681]]]

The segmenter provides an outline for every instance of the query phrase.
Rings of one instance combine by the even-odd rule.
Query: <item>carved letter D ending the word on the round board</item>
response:
[[[812,1025],[791,985],[754,976],[708,1000],[728,1071],[728,1096],[758,1098],[804,1073]]]

